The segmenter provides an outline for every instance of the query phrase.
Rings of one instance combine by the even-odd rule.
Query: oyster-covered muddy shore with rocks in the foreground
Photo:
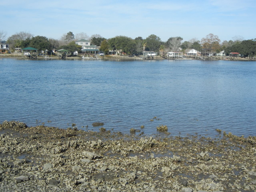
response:
[[[148,137],[0,124],[0,191],[256,190],[256,137]]]

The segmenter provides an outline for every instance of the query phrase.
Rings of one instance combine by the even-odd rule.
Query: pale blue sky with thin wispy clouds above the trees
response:
[[[0,31],[60,39],[85,32],[104,38],[118,35],[167,41],[201,40],[212,33],[221,41],[256,38],[256,0],[1,0]]]

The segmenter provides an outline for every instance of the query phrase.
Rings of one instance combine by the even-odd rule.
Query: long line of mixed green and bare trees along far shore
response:
[[[6,37],[6,33],[0,31],[0,40]],[[73,34],[68,32],[63,34],[60,39],[46,38],[45,36],[34,36],[28,32],[18,32],[10,36],[6,43],[10,48],[26,48],[33,47],[38,50],[48,50],[51,52],[54,49],[67,49],[70,52],[81,52],[81,46],[75,44],[75,41],[85,39],[91,41],[91,44],[100,46],[100,50],[108,54],[109,50],[125,52],[126,54],[139,54],[142,51],[156,51],[161,55],[169,51],[184,51],[186,49],[195,49],[201,51],[202,49],[212,49],[219,53],[224,50],[228,55],[230,52],[238,52],[244,56],[256,55],[256,38],[252,40],[244,40],[242,36],[234,36],[232,40],[224,40],[222,43],[218,36],[208,34],[206,37],[198,40],[192,38],[188,41],[182,42],[183,38],[180,36],[170,37],[166,42],[162,41],[160,37],[151,34],[147,38],[142,37],[130,38],[127,36],[115,36],[106,39],[99,34],[88,36],[81,32]]]

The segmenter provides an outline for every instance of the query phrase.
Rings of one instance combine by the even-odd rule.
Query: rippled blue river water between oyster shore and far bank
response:
[[[28,126],[256,135],[256,62],[0,59],[0,106]]]

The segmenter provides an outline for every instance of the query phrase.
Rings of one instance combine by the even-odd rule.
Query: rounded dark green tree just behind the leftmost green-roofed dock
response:
[[[32,37],[29,46],[33,47],[33,48],[36,48],[38,50],[42,50],[42,51],[44,51],[46,49],[48,51],[52,51],[51,44],[48,41],[48,38],[46,38],[44,36]]]

